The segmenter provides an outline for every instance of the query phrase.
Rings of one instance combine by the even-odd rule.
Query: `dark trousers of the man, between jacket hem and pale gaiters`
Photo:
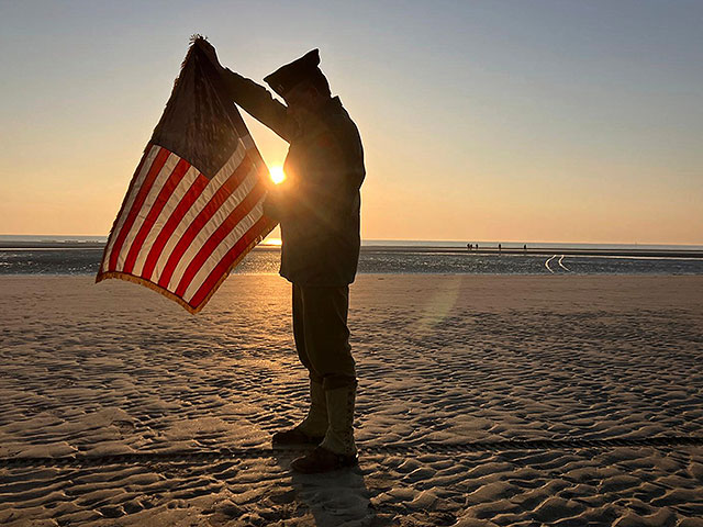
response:
[[[293,337],[298,357],[313,382],[325,390],[356,385],[349,346],[349,287],[293,283]]]

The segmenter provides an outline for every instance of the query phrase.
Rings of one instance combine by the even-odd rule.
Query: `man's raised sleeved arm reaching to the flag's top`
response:
[[[274,99],[263,86],[228,68],[222,69],[221,76],[234,102],[283,139],[290,142],[291,122],[284,104]]]

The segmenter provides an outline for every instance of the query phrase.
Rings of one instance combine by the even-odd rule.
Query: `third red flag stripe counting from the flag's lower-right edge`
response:
[[[158,284],[165,289],[168,289],[168,282],[178,266],[178,262],[182,258],[190,244],[196,239],[202,227],[208,223],[208,221],[212,217],[212,215],[217,212],[217,210],[222,206],[222,204],[230,198],[232,192],[242,183],[242,181],[246,178],[252,168],[252,159],[246,156],[239,166],[234,169],[232,176],[227,178],[227,180],[222,183],[222,187],[217,189],[215,194],[210,199],[208,204],[200,211],[200,213],[196,216],[193,222],[188,226],[181,238],[174,247],[171,255],[168,257],[168,261],[164,267],[164,272],[161,273]]]

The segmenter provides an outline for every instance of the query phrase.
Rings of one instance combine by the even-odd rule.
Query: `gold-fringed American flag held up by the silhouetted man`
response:
[[[204,307],[276,226],[266,164],[197,37],[130,183],[97,282],[120,278]]]

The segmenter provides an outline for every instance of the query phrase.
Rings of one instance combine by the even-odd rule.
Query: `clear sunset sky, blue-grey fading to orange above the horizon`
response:
[[[687,0],[0,0],[0,234],[107,235],[201,33],[258,82],[320,48],[365,239],[703,244],[702,25]]]

